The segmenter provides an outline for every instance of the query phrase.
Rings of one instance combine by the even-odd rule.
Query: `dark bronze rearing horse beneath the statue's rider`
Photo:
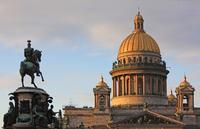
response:
[[[33,62],[36,62],[39,64],[39,62],[41,61],[41,56],[42,56],[42,52],[39,50],[35,50],[33,52],[32,55],[32,60]],[[33,84],[35,86],[35,88],[37,88],[34,79],[35,79],[35,73],[39,72],[39,75],[41,75],[42,81],[44,81],[44,78],[42,76],[42,72],[40,72],[39,70],[39,65],[37,66],[36,64],[29,62],[29,61],[22,61],[20,64],[20,75],[21,75],[21,82],[22,82],[22,87],[24,87],[24,76],[27,74],[31,77],[31,84]]]

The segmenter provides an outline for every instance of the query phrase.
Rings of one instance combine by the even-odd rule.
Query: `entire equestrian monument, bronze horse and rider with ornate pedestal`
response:
[[[39,52],[39,56],[36,54]],[[25,60],[21,62],[20,74],[22,77],[22,87],[10,93],[10,108],[4,115],[4,129],[61,129],[61,111],[54,112],[51,105],[53,98],[41,88],[37,88],[34,82],[34,74],[41,76],[39,62],[41,61],[41,51],[31,48],[30,40],[28,47],[24,49]],[[31,76],[31,83],[34,87],[24,86],[24,76]],[[59,113],[58,120],[55,115]],[[61,122],[60,122],[61,123]]]

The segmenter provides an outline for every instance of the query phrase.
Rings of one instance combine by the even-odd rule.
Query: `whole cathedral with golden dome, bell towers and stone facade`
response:
[[[134,18],[134,31],[122,41],[112,66],[112,89],[101,77],[93,89],[94,108],[64,107],[64,129],[200,128],[195,89],[186,77],[177,86],[176,95],[171,92],[167,96],[169,71],[158,44],[144,30],[140,12]]]

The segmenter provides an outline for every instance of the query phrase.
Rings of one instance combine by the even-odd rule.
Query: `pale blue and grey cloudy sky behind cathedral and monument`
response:
[[[170,71],[168,93],[186,74],[200,106],[199,5],[198,0],[0,0],[0,126],[8,94],[21,86],[27,40],[42,50],[45,81],[35,82],[54,98],[54,110],[93,106],[100,76],[112,86],[109,72],[121,42],[133,31],[138,8]],[[25,85],[31,86],[28,76]]]

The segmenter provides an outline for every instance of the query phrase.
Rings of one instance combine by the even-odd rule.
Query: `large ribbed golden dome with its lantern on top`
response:
[[[118,58],[138,52],[150,52],[160,55],[158,44],[144,31],[143,21],[143,17],[138,12],[134,19],[135,30],[121,43]]]

